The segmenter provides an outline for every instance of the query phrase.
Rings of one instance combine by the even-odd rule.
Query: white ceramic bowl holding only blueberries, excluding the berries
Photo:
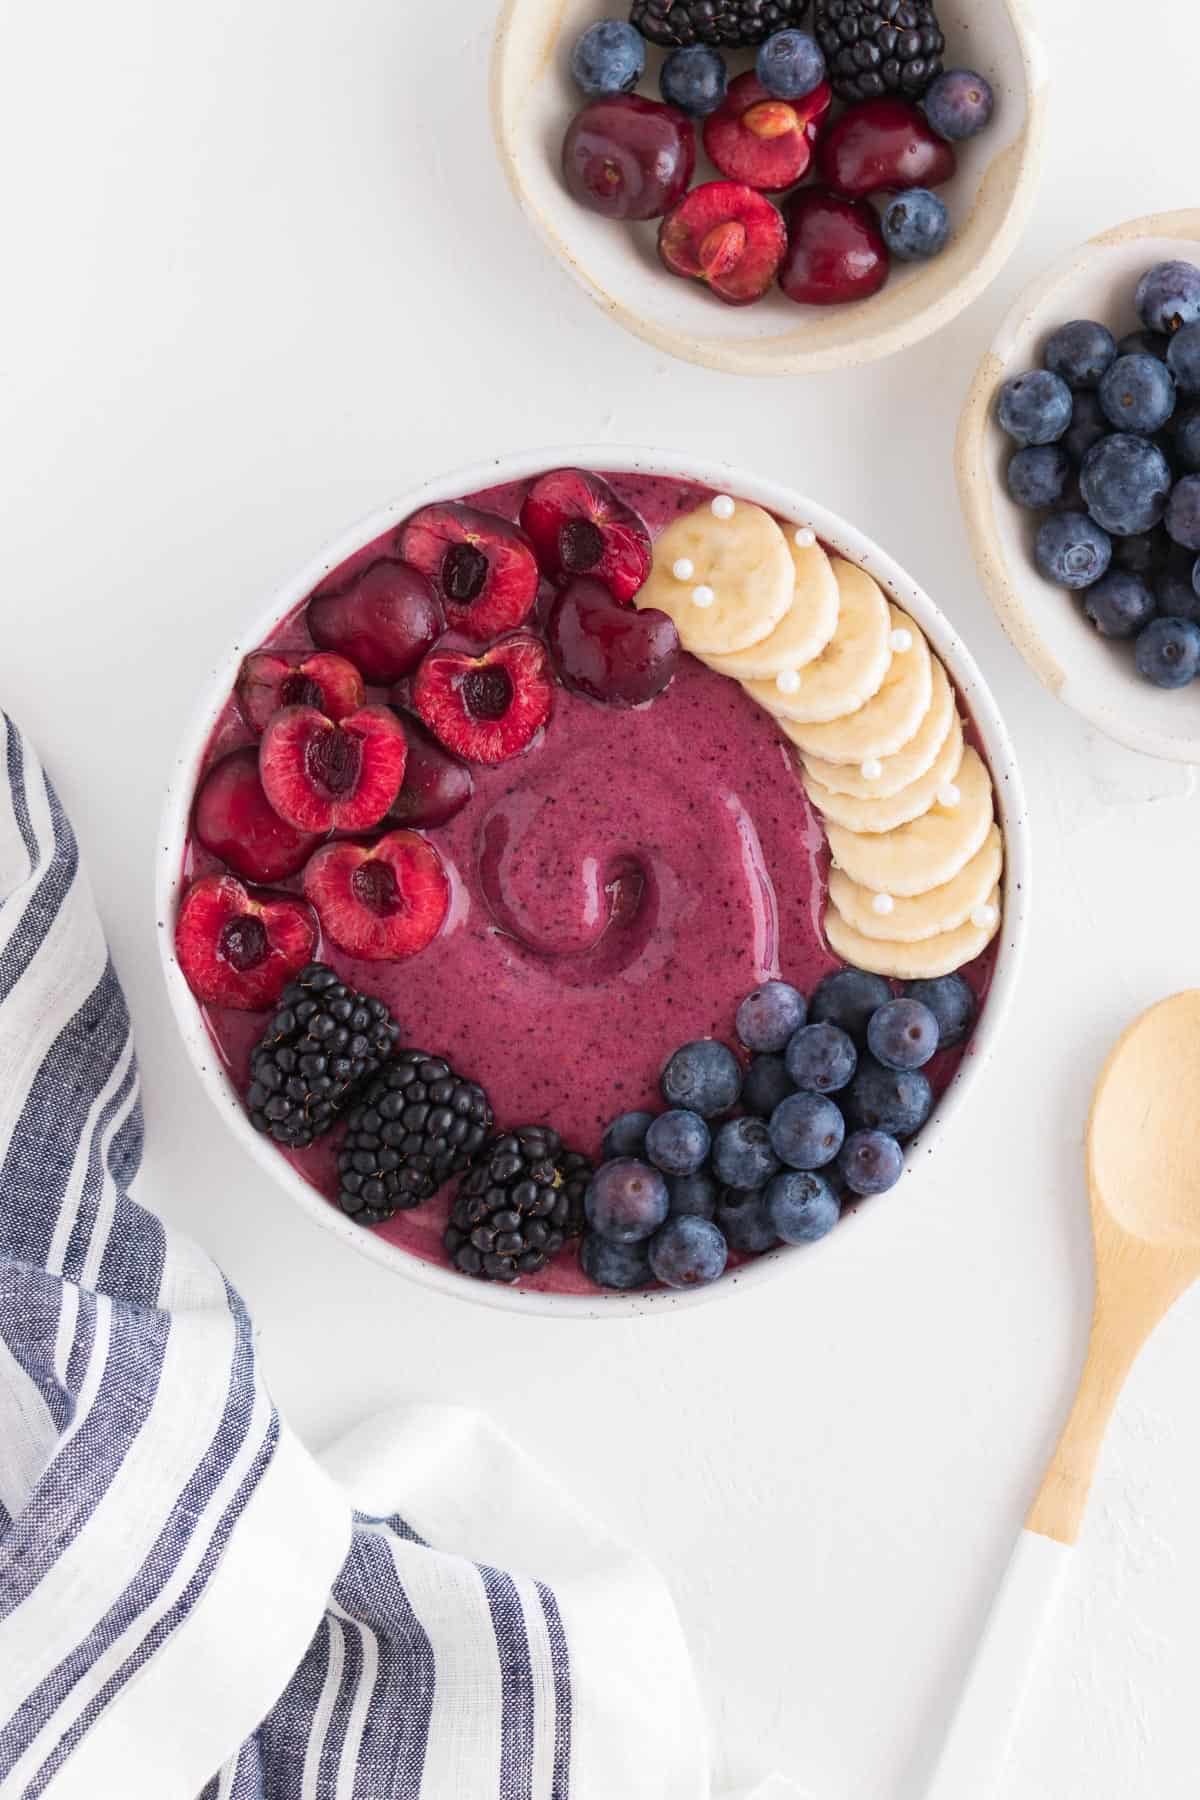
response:
[[[1004,470],[1013,445],[995,418],[1002,382],[1036,369],[1047,337],[1069,319],[1099,319],[1117,337],[1139,328],[1133,292],[1153,265],[1200,263],[1200,211],[1132,220],[1088,239],[1029,286],[979,365],[963,409],[957,472],[975,562],[1004,630],[1038,680],[1097,731],[1146,756],[1200,763],[1195,691],[1142,680],[1132,653],[1087,623],[1076,596],[1047,581],[1033,560],[1036,515],[1009,500]]]

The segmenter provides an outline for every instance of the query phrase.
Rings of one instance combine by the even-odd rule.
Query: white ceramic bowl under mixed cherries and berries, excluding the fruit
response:
[[[984,292],[1024,230],[1042,158],[1045,56],[1025,0],[943,0],[948,67],[988,76],[997,113],[959,146],[946,189],[950,247],[932,263],[896,263],[882,293],[847,306],[795,306],[783,293],[723,306],[667,275],[657,221],[597,218],[561,180],[561,142],[581,95],[567,59],[578,34],[612,14],[604,0],[506,0],[497,31],[491,115],[504,169],[547,247],[626,331],[687,362],[738,374],[801,374],[874,362],[937,331]],[[648,68],[657,70],[657,54]],[[649,92],[649,83],[642,83]],[[657,88],[655,88],[657,92]],[[703,176],[702,176],[703,178]]]

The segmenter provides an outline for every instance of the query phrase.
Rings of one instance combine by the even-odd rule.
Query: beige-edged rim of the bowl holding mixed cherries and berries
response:
[[[732,340],[712,335],[700,337],[691,329],[660,324],[649,313],[639,311],[610,293],[608,288],[585,268],[572,252],[565,238],[556,230],[552,220],[531,198],[520,173],[520,155],[515,140],[515,117],[506,106],[506,76],[511,27],[520,9],[536,0],[504,0],[491,50],[489,74],[489,112],[491,130],[509,187],[525,218],[531,221],[542,241],[554,254],[558,263],[574,281],[603,308],[617,324],[631,331],[633,337],[651,344],[655,349],[680,356],[684,362],[700,364],[705,369],[720,369],[729,374],[817,374],[826,369],[853,369],[862,364],[878,362],[901,349],[932,337],[943,326],[979,299],[995,281],[1009,256],[1016,248],[1036,193],[1042,167],[1042,140],[1045,131],[1045,92],[1049,85],[1049,59],[1042,36],[1033,22],[1027,0],[1000,0],[1009,16],[1016,49],[1020,54],[1025,121],[1020,135],[1004,151],[1016,157],[1016,178],[1004,205],[1000,225],[988,238],[982,256],[970,265],[959,283],[927,301],[912,315],[894,319],[887,326],[867,326],[851,344],[831,344],[824,349],[779,349],[779,340]],[[549,11],[561,14],[563,0],[554,0]],[[556,27],[558,29],[558,27]],[[869,306],[869,301],[864,302]]]

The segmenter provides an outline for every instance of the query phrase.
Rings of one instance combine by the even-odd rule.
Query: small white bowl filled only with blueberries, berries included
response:
[[[1115,742],[1200,763],[1200,211],[1103,232],[1020,297],[957,464],[1038,679]]]

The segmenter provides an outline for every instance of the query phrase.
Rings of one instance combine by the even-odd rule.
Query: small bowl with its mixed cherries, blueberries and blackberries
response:
[[[991,279],[1040,58],[1006,0],[513,0],[495,101],[522,203],[617,319],[799,371],[905,347]]]

